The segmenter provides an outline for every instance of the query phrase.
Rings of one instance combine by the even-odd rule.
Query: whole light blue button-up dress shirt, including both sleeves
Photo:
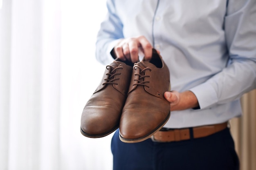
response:
[[[110,64],[119,39],[144,35],[169,68],[171,90],[198,99],[200,109],[171,112],[165,127],[242,114],[240,97],[256,88],[256,0],[107,0],[107,7],[97,60]]]

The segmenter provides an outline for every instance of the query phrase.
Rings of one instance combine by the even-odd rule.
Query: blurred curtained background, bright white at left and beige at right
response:
[[[80,133],[105,14],[106,0],[0,0],[0,170],[112,169],[112,134]],[[256,91],[241,102],[231,131],[241,170],[256,170]]]

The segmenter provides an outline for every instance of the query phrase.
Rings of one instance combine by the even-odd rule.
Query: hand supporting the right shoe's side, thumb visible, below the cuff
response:
[[[177,91],[166,91],[164,93],[164,97],[168,102],[170,102],[171,111],[186,110],[199,106],[198,99],[191,91],[184,91],[182,93]]]

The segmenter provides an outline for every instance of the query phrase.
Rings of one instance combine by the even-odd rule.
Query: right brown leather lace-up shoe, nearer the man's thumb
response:
[[[170,117],[170,103],[164,98],[166,91],[170,91],[169,70],[153,49],[150,62],[143,59],[133,66],[119,125],[121,141],[144,141],[166,124]]]

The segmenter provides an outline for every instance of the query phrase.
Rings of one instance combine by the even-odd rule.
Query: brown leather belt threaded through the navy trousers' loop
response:
[[[212,135],[216,132],[224,130],[227,127],[229,127],[228,122],[225,122],[222,124],[198,126],[191,129],[193,130],[193,138],[200,138]],[[189,129],[190,128],[159,130],[151,137],[151,139],[157,142],[188,140],[191,139]]]

